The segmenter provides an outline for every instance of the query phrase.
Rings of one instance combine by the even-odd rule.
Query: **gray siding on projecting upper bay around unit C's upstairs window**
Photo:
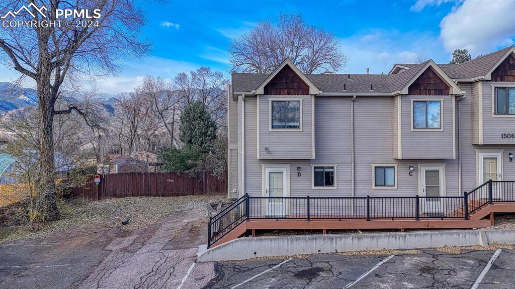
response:
[[[411,131],[411,99],[443,98],[443,131]],[[451,96],[402,96],[402,158],[453,158],[453,98]],[[395,116],[391,116],[392,118]]]

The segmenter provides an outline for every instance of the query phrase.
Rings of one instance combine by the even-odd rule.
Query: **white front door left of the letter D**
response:
[[[286,168],[266,168],[265,196],[267,216],[285,216],[287,211]]]

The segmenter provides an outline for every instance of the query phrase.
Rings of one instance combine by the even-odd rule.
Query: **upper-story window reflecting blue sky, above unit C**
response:
[[[413,101],[413,129],[441,129],[441,110],[440,100]]]

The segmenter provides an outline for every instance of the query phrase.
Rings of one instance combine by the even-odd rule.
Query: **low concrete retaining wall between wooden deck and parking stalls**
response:
[[[197,262],[362,250],[487,245],[494,242],[515,244],[515,230],[448,230],[238,238],[199,252]]]

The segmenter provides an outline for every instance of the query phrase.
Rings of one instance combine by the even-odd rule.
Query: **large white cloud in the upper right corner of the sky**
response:
[[[513,44],[514,11],[515,0],[466,0],[440,22],[445,50],[466,48],[475,57]]]

